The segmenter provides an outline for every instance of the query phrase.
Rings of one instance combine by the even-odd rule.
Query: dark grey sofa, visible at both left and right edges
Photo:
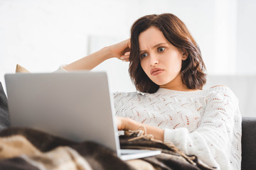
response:
[[[7,98],[0,82],[0,130],[8,128]],[[242,117],[242,170],[256,169],[256,117]]]

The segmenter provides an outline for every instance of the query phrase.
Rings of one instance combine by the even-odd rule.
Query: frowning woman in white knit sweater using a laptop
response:
[[[92,69],[117,57],[141,93],[114,94],[119,130],[137,130],[173,142],[216,169],[240,169],[241,115],[226,86],[206,84],[201,51],[184,23],[170,13],[139,18],[131,39],[60,69]]]

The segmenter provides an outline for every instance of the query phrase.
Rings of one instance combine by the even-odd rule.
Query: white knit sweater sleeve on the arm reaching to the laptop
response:
[[[195,154],[216,169],[240,169],[242,118],[238,99],[230,89],[215,91],[206,105],[197,130],[165,129],[164,142],[173,142],[178,149]]]

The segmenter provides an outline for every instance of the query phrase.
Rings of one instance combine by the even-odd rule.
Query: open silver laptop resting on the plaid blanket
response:
[[[120,149],[105,72],[6,74],[11,126],[105,145],[123,160],[161,151]],[[124,152],[124,154],[122,154]]]

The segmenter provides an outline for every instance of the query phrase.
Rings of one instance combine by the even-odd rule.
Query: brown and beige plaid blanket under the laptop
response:
[[[143,130],[126,131],[119,140],[123,149],[160,149],[162,153],[124,162],[95,142],[73,142],[31,128],[7,128],[0,131],[0,169],[210,169],[195,155],[183,154]]]

